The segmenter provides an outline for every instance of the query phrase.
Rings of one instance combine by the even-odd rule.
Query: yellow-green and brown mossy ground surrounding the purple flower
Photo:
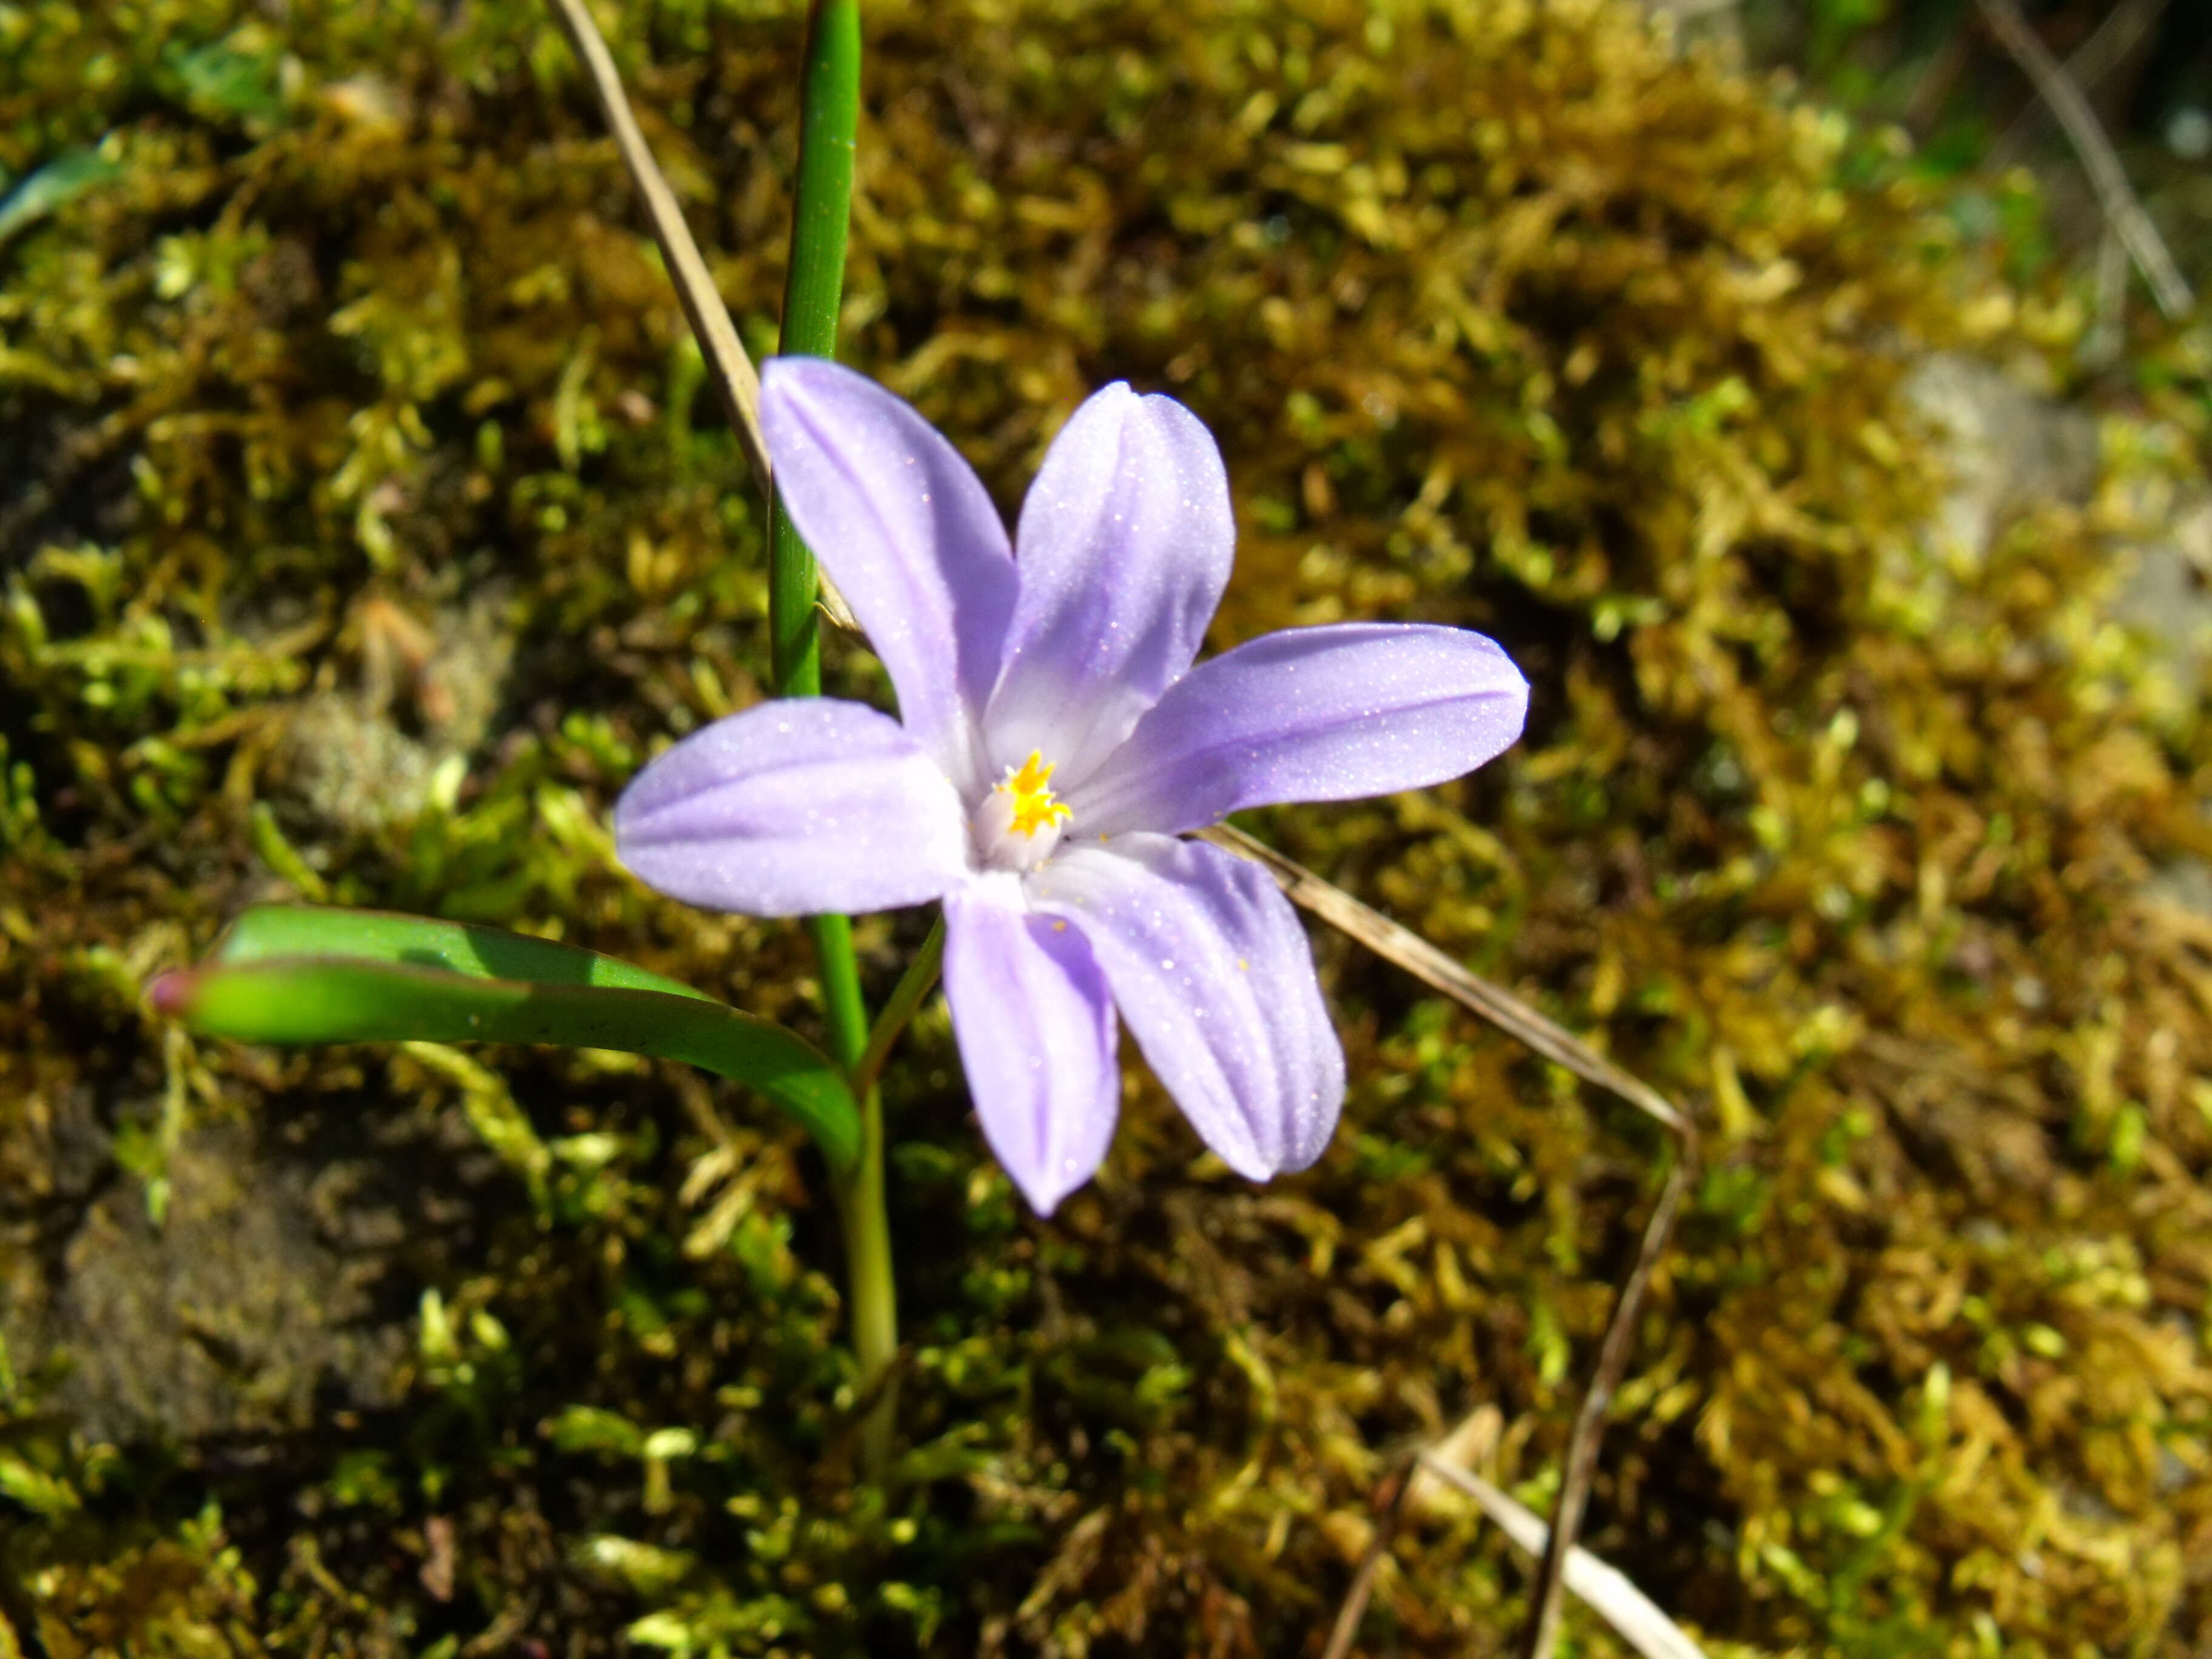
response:
[[[799,18],[606,22],[768,349]],[[1489,1409],[1548,1498],[1661,1148],[1343,940],[1345,1128],[1270,1188],[1133,1075],[1040,1223],[920,1022],[880,1491],[818,1172],[743,1095],[155,1022],[281,891],[810,1022],[794,929],[604,832],[759,697],[759,509],[529,0],[11,0],[0,62],[7,175],[108,164],[0,243],[0,1632],[1292,1655],[1402,1447]],[[2170,898],[2212,748],[2106,608],[2203,365],[2154,361],[2090,500],[1947,544],[1900,380],[2079,325],[2000,257],[1626,9],[869,13],[852,361],[1006,504],[1095,383],[1172,389],[1239,504],[1217,644],[1427,617],[1528,670],[1475,779],[1254,827],[1705,1117],[1588,1544],[1721,1655],[2212,1637],[2212,922]],[[916,938],[863,925],[878,995]],[[210,1272],[179,1239],[241,1203],[281,1225]],[[91,1298],[117,1261],[195,1290]],[[1367,1650],[1502,1652],[1522,1584],[1431,1504]]]

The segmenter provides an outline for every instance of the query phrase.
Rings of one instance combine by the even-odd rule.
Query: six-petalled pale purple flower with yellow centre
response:
[[[717,721],[624,792],[622,860],[752,916],[945,900],[975,1113],[1040,1212],[1106,1157],[1117,1009],[1230,1168],[1321,1157],[1345,1055],[1305,931],[1263,869],[1181,836],[1469,772],[1520,737],[1520,670],[1411,624],[1192,666],[1237,531],[1221,453],[1172,398],[1110,385],[1077,409],[1013,546],[953,447],[849,369],[770,363],[761,422],[900,719],[805,699]]]

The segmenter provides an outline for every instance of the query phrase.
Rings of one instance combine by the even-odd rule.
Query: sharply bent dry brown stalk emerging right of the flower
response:
[[[1644,1241],[1637,1248],[1637,1261],[1628,1270],[1628,1281],[1621,1285],[1621,1294],[1613,1305],[1613,1321],[1606,1325],[1606,1336],[1597,1347],[1597,1369],[1590,1374],[1590,1389],[1582,1400],[1582,1411],[1575,1416],[1575,1427],[1566,1436],[1559,1502],[1553,1509],[1551,1542],[1544,1546],[1544,1562],[1535,1579],[1528,1639],[1524,1646],[1526,1659],[1551,1659],[1551,1648],[1559,1635],[1559,1604],[1566,1595],[1566,1562],[1568,1553],[1575,1548],[1575,1533],[1582,1531],[1582,1511],[1588,1504],[1590,1480],[1597,1473],[1597,1447],[1606,1433],[1606,1411],[1613,1405],[1613,1391],[1621,1385],[1621,1371],[1628,1367],[1628,1356],[1635,1349],[1637,1314],[1644,1307],[1644,1292],[1650,1287],[1659,1256],[1666,1254],[1668,1239],[1674,1234],[1674,1217],[1681,1210],[1681,1194],[1688,1188],[1690,1170],[1697,1164],[1697,1130],[1690,1124],[1690,1115],[1666,1099],[1666,1095],[1657,1088],[1621,1071],[1582,1042],[1582,1037],[1553,1024],[1511,991],[1491,984],[1478,973],[1469,973],[1440,949],[1429,945],[1429,940],[1420,933],[1413,933],[1411,929],[1394,922],[1389,916],[1369,909],[1343,887],[1323,880],[1305,865],[1285,858],[1267,843],[1248,836],[1243,830],[1234,830],[1223,823],[1201,834],[1219,847],[1228,847],[1234,854],[1243,854],[1245,858],[1265,865],[1294,905],[1303,905],[1323,922],[1358,940],[1383,960],[1396,962],[1416,980],[1442,991],[1453,1002],[1495,1024],[1500,1031],[1520,1037],[1546,1060],[1566,1066],[1584,1082],[1628,1102],[1637,1110],[1663,1124],[1674,1137],[1674,1168],[1668,1170],[1666,1186],[1659,1188],[1659,1201],[1652,1206],[1650,1219],[1644,1223]],[[1367,1568],[1365,1562],[1360,1566],[1363,1571]],[[1336,1630],[1329,1637],[1325,1659],[1338,1659],[1338,1655],[1349,1648],[1352,1632],[1358,1628],[1360,1613],[1367,1606],[1369,1588],[1371,1573],[1354,1577],[1352,1593],[1345,1595],[1345,1604],[1338,1608]]]

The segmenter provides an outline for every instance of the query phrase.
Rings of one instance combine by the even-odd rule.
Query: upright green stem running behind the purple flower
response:
[[[783,281],[779,349],[787,356],[836,356],[858,122],[860,4],[814,0],[801,77],[792,263]],[[814,622],[818,586],[814,551],[799,540],[779,495],[768,515],[768,646],[779,697],[821,697],[821,630]],[[860,1000],[860,964],[845,916],[814,918],[814,958],[821,964],[830,1057],[847,1075],[856,1075],[867,1051],[867,1004]],[[845,1223],[845,1276],[860,1391],[876,1391],[860,1425],[860,1464],[872,1478],[880,1478],[891,1455],[898,1405],[885,1385],[898,1352],[898,1296],[891,1281],[891,1223],[883,1206],[883,1102],[874,1086],[860,1091],[860,1157],[841,1183],[838,1217]]]

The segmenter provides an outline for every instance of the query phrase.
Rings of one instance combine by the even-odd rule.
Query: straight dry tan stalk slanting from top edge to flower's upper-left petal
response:
[[[668,265],[668,276],[677,285],[684,321],[690,323],[690,332],[699,341],[708,378],[714,383],[714,392],[721,394],[721,407],[737,431],[737,447],[745,451],[745,462],[752,467],[752,476],[761,480],[765,495],[772,482],[768,436],[761,431],[761,376],[754,372],[752,358],[745,356],[745,345],[737,338],[730,307],[723,305],[721,290],[714,288],[714,276],[699,254],[699,243],[692,241],[690,226],[684,221],[684,208],[677,204],[677,192],[668,188],[668,177],[646,146],[646,135],[639,131],[630,100],[622,91],[622,75],[615,71],[615,58],[606,49],[604,35],[599,35],[599,24],[591,20],[584,0],[549,0],[549,4],[568,35],[568,44],[575,46],[577,62],[584,64],[591,91],[599,100],[599,113],[615,135],[615,148],[630,170],[637,195],[644,197],[646,221],[653,226],[653,241],[661,248],[661,263]],[[841,628],[858,633],[852,608],[836,591],[836,584],[827,575],[821,577],[821,584],[823,611],[830,613],[830,619]]]

